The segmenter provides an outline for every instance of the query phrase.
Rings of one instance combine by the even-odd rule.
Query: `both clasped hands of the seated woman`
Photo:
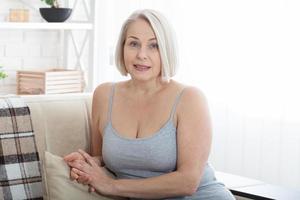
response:
[[[64,157],[70,167],[70,179],[89,186],[89,192],[98,192],[104,195],[112,194],[114,179],[106,174],[101,161],[96,161],[85,151],[79,149]]]

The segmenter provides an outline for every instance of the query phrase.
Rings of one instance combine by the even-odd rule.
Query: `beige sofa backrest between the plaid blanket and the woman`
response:
[[[44,152],[64,156],[81,148],[89,151],[92,94],[22,96],[31,111],[41,159],[44,199],[47,195]]]

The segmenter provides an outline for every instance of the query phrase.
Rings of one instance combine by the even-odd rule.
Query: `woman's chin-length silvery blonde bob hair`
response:
[[[118,70],[124,76],[127,76],[127,70],[124,63],[124,44],[129,25],[137,19],[146,20],[152,27],[156,36],[159,53],[162,63],[161,77],[164,81],[169,81],[176,74],[178,68],[177,44],[174,31],[168,20],[155,10],[138,10],[132,13],[124,22],[116,46],[115,62]]]

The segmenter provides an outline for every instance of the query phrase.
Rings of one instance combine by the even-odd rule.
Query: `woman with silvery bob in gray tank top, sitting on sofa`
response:
[[[67,155],[72,179],[120,197],[234,199],[207,164],[211,126],[204,95],[171,80],[174,44],[156,11],[137,11],[125,21],[116,64],[131,79],[96,88],[91,155],[98,157],[82,150]]]

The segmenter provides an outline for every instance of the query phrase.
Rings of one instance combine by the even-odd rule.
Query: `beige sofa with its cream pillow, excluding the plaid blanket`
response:
[[[39,152],[43,199],[119,199],[87,192],[87,186],[69,180],[62,157],[90,150],[92,94],[26,95],[36,148]],[[1,197],[0,197],[1,199]]]

